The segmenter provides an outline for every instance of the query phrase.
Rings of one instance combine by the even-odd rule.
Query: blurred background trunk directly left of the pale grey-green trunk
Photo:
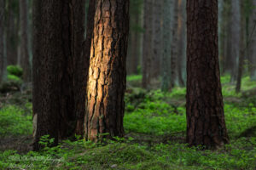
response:
[[[162,29],[161,29],[161,13],[162,13],[162,2],[154,0],[153,3],[153,55],[152,55],[152,66],[150,68],[152,78],[158,79],[160,76],[160,58],[162,48]]]

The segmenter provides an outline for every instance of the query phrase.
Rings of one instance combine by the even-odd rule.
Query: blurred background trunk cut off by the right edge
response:
[[[251,42],[249,42],[249,71],[252,81],[256,81],[256,0],[253,0],[253,14],[250,19],[250,36]]]

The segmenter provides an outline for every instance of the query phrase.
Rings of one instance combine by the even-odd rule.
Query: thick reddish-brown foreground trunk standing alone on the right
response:
[[[187,142],[229,142],[218,65],[218,1],[187,0]]]

